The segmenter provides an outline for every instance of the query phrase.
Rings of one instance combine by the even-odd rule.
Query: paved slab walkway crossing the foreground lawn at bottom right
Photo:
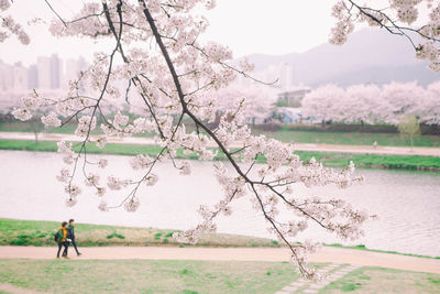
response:
[[[348,273],[358,270],[359,268],[362,268],[361,265],[345,265],[342,263],[330,263],[329,265],[319,269],[318,273],[323,276],[322,280],[318,282],[309,282],[309,281],[304,281],[299,280],[297,282],[294,282],[285,287],[283,287],[280,291],[276,292],[275,294],[290,294],[290,293],[319,293],[320,290],[326,287],[328,284],[331,282],[334,282],[337,280],[342,279],[344,275]]]

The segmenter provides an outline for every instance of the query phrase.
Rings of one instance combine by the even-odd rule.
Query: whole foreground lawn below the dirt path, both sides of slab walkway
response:
[[[0,260],[0,283],[52,293],[273,294],[298,279],[287,262]],[[433,294],[440,275],[364,266],[319,293],[352,291]]]

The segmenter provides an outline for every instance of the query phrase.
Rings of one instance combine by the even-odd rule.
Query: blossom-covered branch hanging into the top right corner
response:
[[[355,0],[337,1],[332,9],[332,15],[337,19],[337,23],[331,29],[330,43],[338,45],[345,43],[348,35],[358,23],[378,26],[409,40],[418,35],[420,40],[415,39],[410,42],[416,51],[416,56],[429,61],[429,68],[440,72],[439,1],[384,0],[376,1],[372,6],[375,7],[369,7]],[[424,23],[418,21],[420,19]]]

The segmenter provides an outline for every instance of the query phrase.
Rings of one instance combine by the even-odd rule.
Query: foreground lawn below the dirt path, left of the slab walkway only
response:
[[[274,293],[297,279],[280,262],[0,260],[0,283],[52,293]]]

